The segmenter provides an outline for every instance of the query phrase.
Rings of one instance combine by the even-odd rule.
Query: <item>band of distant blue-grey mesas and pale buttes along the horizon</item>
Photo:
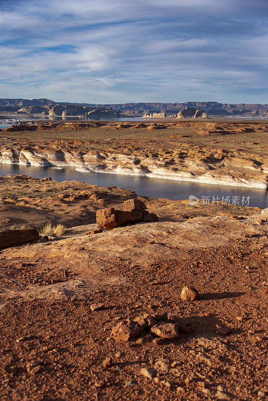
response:
[[[56,107],[55,109],[53,109]],[[186,115],[193,108],[192,115]],[[267,118],[268,104],[230,104],[218,102],[184,102],[184,103],[70,103],[54,102],[50,99],[0,99],[0,112],[48,115],[50,110],[54,116],[94,116],[94,117],[145,117],[145,118],[206,118],[207,116],[243,116]],[[51,113],[53,113],[51,111]],[[61,111],[61,112],[60,112]],[[196,111],[198,113],[195,115]],[[200,115],[201,112],[201,115]],[[63,113],[63,114],[62,114]],[[88,114],[89,113],[89,114]],[[179,114],[179,116],[178,116]],[[53,116],[53,114],[50,114]]]

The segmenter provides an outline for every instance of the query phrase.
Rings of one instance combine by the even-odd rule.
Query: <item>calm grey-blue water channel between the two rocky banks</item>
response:
[[[134,190],[138,195],[164,197],[168,199],[187,199],[194,195],[201,199],[209,197],[210,204],[222,196],[230,197],[230,203],[235,202],[246,206],[268,207],[268,192],[264,189],[246,188],[228,185],[201,184],[197,182],[177,181],[172,179],[151,178],[135,175],[120,175],[100,172],[81,172],[74,168],[57,169],[52,167],[21,166],[14,164],[0,164],[0,175],[28,174],[35,178],[50,176],[57,181],[77,179],[100,186],[116,186]],[[249,197],[249,198],[248,198]]]

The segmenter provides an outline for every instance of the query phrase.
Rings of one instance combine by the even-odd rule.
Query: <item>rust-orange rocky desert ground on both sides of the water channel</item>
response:
[[[264,120],[42,122],[2,129],[0,159],[265,191],[267,133]],[[128,199],[159,221],[99,229],[97,211]],[[0,176],[0,236],[27,229],[39,238],[0,251],[3,400],[267,399],[265,210]]]

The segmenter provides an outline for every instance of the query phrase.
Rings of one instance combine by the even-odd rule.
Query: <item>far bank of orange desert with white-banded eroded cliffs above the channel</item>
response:
[[[260,143],[254,138],[261,134],[265,141],[267,127],[215,122],[37,124],[35,130],[44,131],[48,140],[27,131],[31,127],[25,126],[22,133],[13,127],[2,131],[0,163],[266,189],[267,141],[256,151],[254,145]],[[70,139],[73,133],[68,130],[73,129],[85,140]],[[64,136],[68,139],[60,140]],[[221,143],[225,136],[230,138],[227,146]],[[239,143],[241,137],[244,141]]]

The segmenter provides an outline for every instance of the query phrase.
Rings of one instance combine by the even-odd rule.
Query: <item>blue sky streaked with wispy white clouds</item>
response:
[[[0,98],[268,103],[268,0],[0,0]]]

